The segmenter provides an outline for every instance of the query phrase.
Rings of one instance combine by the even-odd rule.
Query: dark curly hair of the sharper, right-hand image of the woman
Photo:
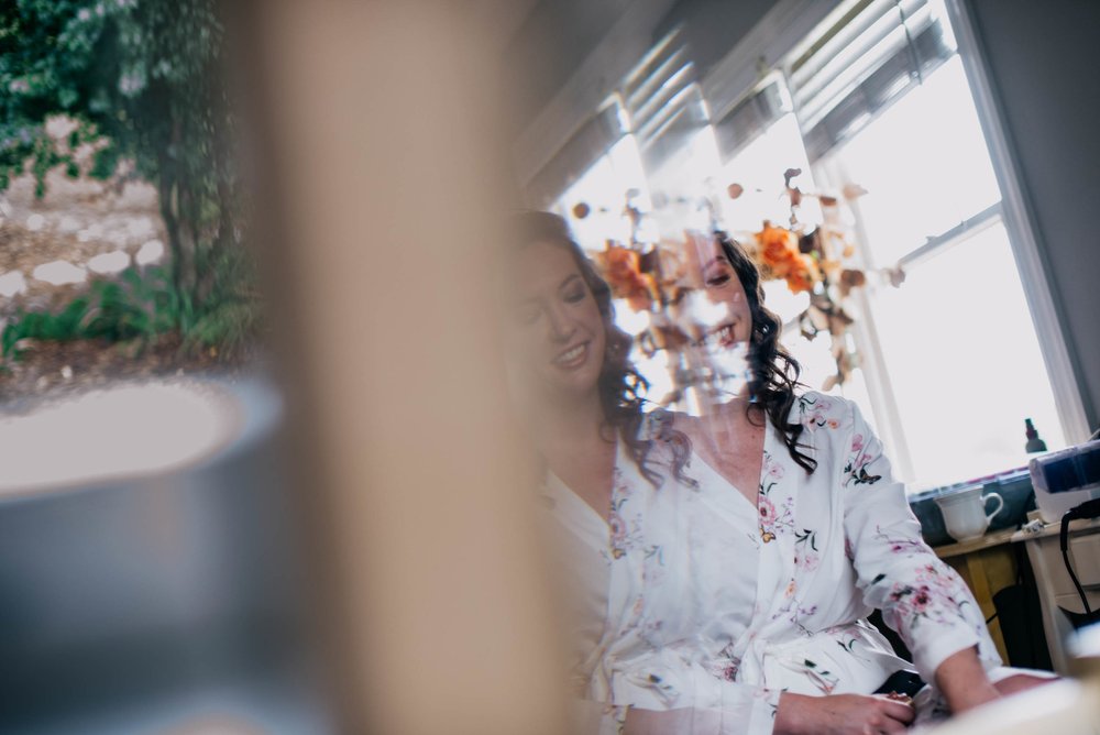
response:
[[[783,435],[783,443],[793,459],[807,474],[817,469],[817,460],[799,448],[799,437],[804,427],[791,423],[791,407],[796,399],[795,387],[802,366],[779,343],[782,322],[763,305],[763,288],[760,285],[760,271],[745,254],[741,246],[725,232],[714,232],[715,242],[722,248],[726,260],[734,266],[737,277],[748,298],[749,311],[752,315],[752,336],[749,338],[749,391],[754,401],[746,412],[749,420],[762,419],[767,414],[773,426]]]

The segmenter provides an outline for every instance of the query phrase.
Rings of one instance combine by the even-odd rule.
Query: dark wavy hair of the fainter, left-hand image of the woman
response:
[[[660,485],[663,478],[647,467],[646,458],[652,448],[652,440],[640,436],[644,419],[646,390],[649,383],[634,369],[630,363],[630,345],[632,339],[615,325],[615,307],[612,304],[612,289],[596,272],[592,261],[584,254],[581,246],[573,240],[565,220],[557,215],[541,211],[521,212],[516,217],[519,244],[531,245],[546,242],[558,245],[572,255],[581,277],[587,284],[600,308],[606,332],[604,364],[597,382],[600,403],[604,410],[606,428],[613,439],[617,434],[630,450],[630,456],[638,470],[653,485]],[[663,439],[669,440],[673,452],[672,471],[678,480],[695,484],[683,475],[688,463],[690,445],[681,431],[667,428],[662,431]]]

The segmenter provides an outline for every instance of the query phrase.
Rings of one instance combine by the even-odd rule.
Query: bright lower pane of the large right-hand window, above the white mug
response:
[[[1000,223],[873,294],[875,320],[915,480],[1023,465],[1024,419],[1065,446],[1008,234]]]

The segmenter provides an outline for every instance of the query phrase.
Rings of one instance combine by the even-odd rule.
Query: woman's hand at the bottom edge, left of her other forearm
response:
[[[916,713],[913,706],[872,694],[806,696],[784,692],[779,698],[776,733],[800,735],[879,735],[904,733]]]

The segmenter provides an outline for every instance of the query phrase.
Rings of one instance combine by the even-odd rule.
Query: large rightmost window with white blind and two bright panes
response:
[[[851,79],[824,113],[821,102],[803,113],[803,128],[821,141],[821,121],[848,116],[843,125],[834,120],[827,147],[817,143],[815,176],[868,190],[854,204],[867,265],[906,273],[900,288],[869,281],[857,325],[869,408],[899,473],[920,490],[1024,464],[1024,418],[1050,449],[1065,437],[954,35],[942,7],[908,4],[911,15],[902,8],[893,25],[912,24],[908,44],[934,37],[924,44],[932,59],[880,45],[878,67]],[[882,21],[868,33],[883,35]],[[897,58],[911,63],[908,79],[893,74],[900,91],[866,102],[875,101],[868,80]],[[864,102],[858,114],[854,97]]]

